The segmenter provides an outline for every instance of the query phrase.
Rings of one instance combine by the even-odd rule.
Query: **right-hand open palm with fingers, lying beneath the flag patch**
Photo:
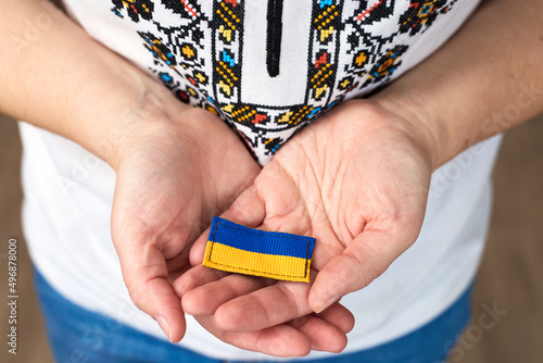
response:
[[[416,240],[432,171],[431,145],[416,120],[370,100],[348,101],[315,121],[278,151],[223,215],[249,227],[315,237],[312,284],[199,266],[174,284],[185,311],[213,315],[213,328],[241,334],[337,306]],[[206,233],[191,250],[193,264],[203,259]],[[341,324],[349,321],[337,312]]]

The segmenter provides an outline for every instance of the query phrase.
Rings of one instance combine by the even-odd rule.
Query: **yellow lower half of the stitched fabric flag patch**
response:
[[[207,241],[203,265],[238,274],[310,281],[311,260],[250,252],[213,241]]]

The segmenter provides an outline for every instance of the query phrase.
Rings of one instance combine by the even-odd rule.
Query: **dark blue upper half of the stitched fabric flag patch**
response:
[[[210,240],[240,250],[311,259],[315,238],[280,231],[252,229],[214,216]]]

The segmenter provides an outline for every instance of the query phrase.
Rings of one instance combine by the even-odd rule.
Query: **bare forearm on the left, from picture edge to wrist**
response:
[[[0,13],[0,111],[65,136],[115,163],[115,148],[146,115],[166,120],[173,95],[91,39],[43,0]],[[114,140],[111,140],[114,138]]]

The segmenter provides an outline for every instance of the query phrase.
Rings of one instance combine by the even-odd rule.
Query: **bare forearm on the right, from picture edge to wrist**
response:
[[[542,18],[540,0],[483,1],[444,47],[372,99],[422,124],[437,168],[543,111]]]

